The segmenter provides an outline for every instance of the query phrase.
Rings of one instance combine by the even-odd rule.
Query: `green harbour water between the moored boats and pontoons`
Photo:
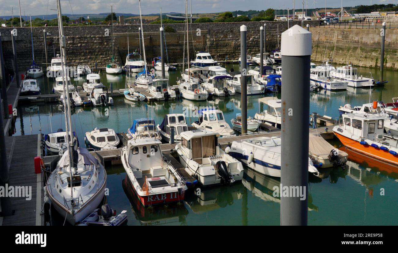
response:
[[[239,69],[238,65],[226,68]],[[359,68],[359,75],[378,79],[378,70]],[[353,89],[342,92],[320,90],[310,96],[310,111],[336,118],[338,107],[344,104],[362,105],[379,97],[390,102],[398,96],[397,71],[385,71],[389,82],[370,89]],[[113,88],[125,87],[125,74],[113,76],[100,73],[101,81]],[[170,84],[175,84],[179,70],[169,72]],[[51,93],[53,81],[39,78],[43,93]],[[81,85],[81,80],[73,81]],[[271,96],[272,94],[269,94]],[[278,94],[280,97],[280,94]],[[258,98],[248,97],[248,116],[259,110]],[[227,122],[240,112],[240,94],[217,98],[212,102],[177,100],[169,102],[126,103],[123,97],[115,97],[115,104],[105,108],[77,108],[73,111],[73,125],[80,144],[84,143],[86,131],[94,127],[109,127],[125,132],[134,119],[153,117],[160,124],[165,114],[182,112],[184,106],[218,106]],[[50,117],[51,116],[51,117]],[[193,122],[195,118],[189,118]],[[57,104],[27,104],[18,107],[16,135],[48,133],[58,128],[65,129],[64,114]],[[341,144],[334,140],[333,145]],[[321,171],[322,178],[310,176],[308,196],[309,225],[398,225],[398,168],[378,163],[368,157],[349,155],[347,169],[335,168]],[[270,178],[246,171],[242,183],[234,186],[219,186],[187,192],[182,205],[143,208],[134,197],[128,198],[122,186],[125,171],[121,165],[106,166],[109,188],[108,203],[117,212],[127,210],[128,225],[279,225],[280,199],[272,196],[272,188],[279,184],[278,178]],[[384,189],[385,195],[380,195]],[[62,219],[61,224],[63,222]],[[57,223],[55,223],[57,224]]]

